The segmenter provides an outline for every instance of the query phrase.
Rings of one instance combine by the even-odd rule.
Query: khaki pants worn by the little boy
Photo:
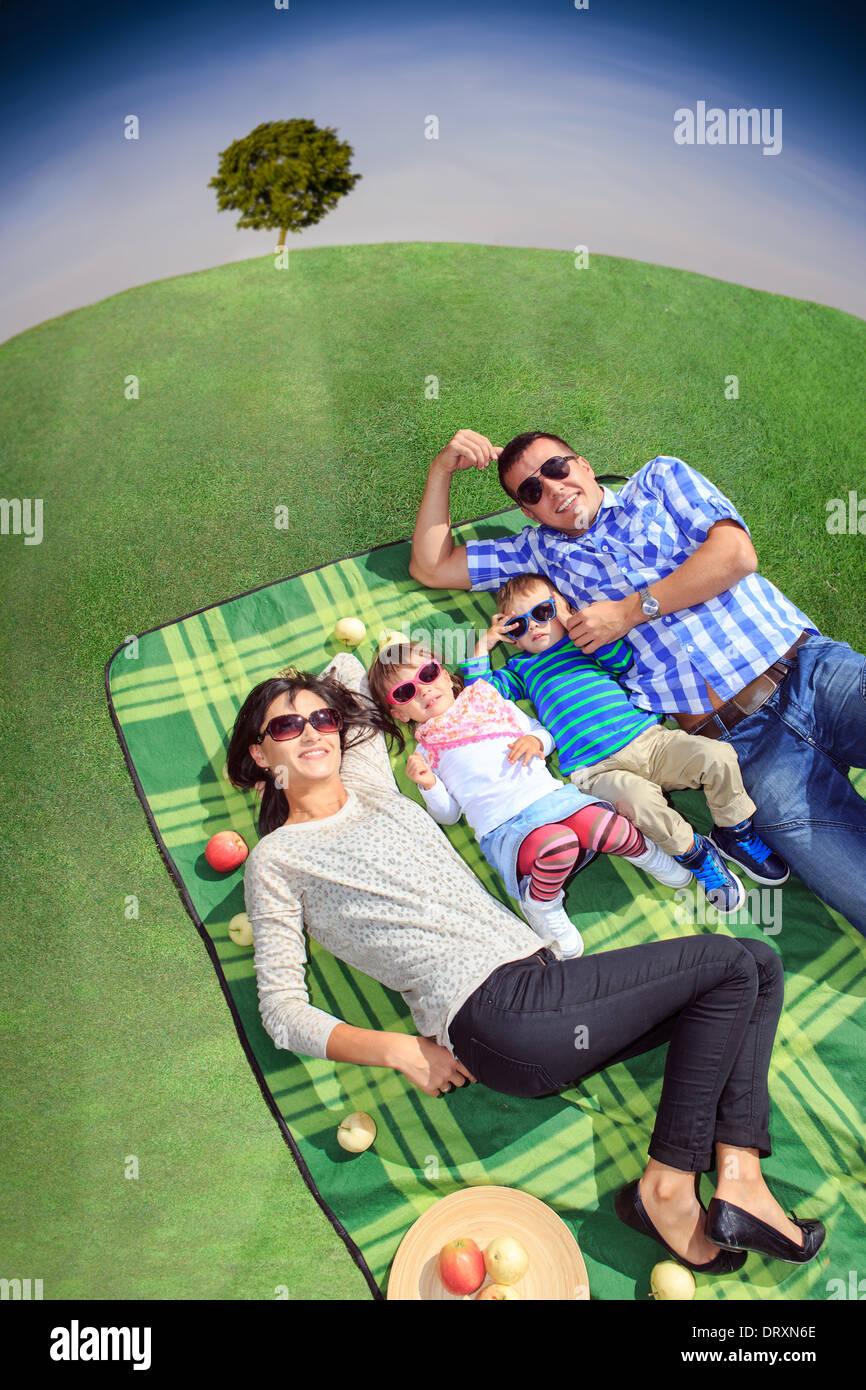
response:
[[[645,728],[619,753],[578,767],[571,781],[610,801],[621,816],[669,855],[684,855],[695,831],[664,799],[666,791],[701,787],[716,826],[737,826],[755,813],[730,744],[683,728]]]

